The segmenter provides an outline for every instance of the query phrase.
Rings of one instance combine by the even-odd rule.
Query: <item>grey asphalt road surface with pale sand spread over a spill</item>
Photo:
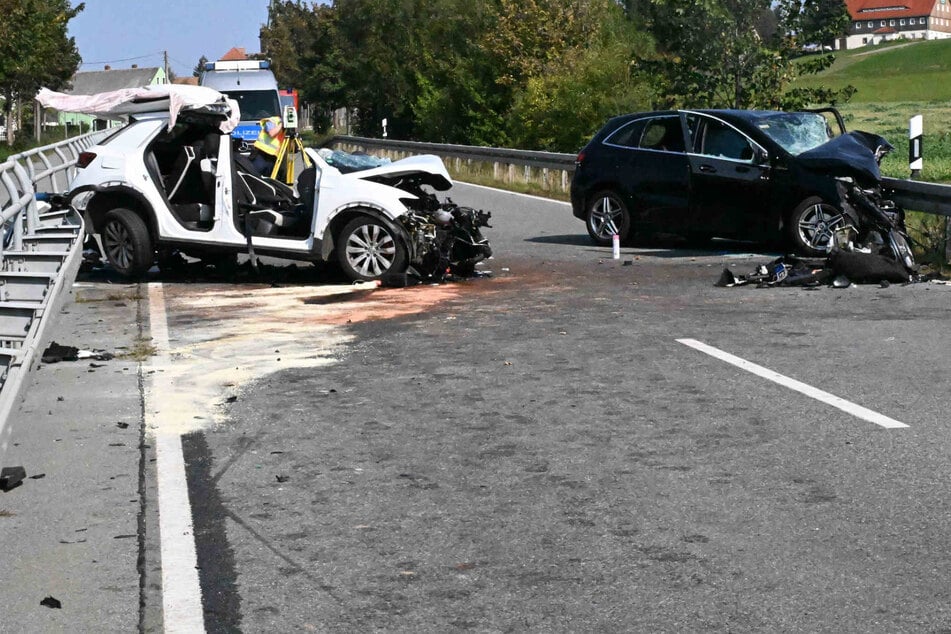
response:
[[[315,268],[121,287],[125,337],[149,332],[160,288],[168,342],[141,392],[100,385],[141,404],[145,439],[143,558],[114,562],[138,563],[144,607],[117,623],[169,623],[149,421],[174,403],[191,414],[209,632],[951,632],[951,288],[716,288],[725,266],[775,254],[671,242],[612,260],[564,204],[453,198],[493,211],[490,277],[349,289]],[[87,398],[76,411],[95,411]],[[0,509],[60,482],[51,465]],[[44,521],[30,507],[0,523]],[[10,548],[14,567],[31,556]],[[115,609],[134,611],[136,590]],[[110,609],[64,592],[64,613]],[[34,610],[0,623],[68,631]]]

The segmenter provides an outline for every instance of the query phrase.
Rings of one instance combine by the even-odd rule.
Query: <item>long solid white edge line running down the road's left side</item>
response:
[[[145,374],[146,429],[155,434],[155,468],[158,478],[159,536],[162,551],[162,609],[165,631],[199,633],[205,631],[201,607],[201,584],[192,509],[185,480],[182,437],[176,429],[175,411],[163,413],[163,401],[172,387],[164,370],[169,365],[168,322],[161,283],[149,284],[149,329],[156,354]],[[173,424],[169,424],[173,423]]]

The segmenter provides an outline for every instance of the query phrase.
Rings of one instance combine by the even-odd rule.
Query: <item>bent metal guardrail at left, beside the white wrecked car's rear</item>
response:
[[[82,217],[37,193],[65,193],[79,154],[108,130],[36,148],[0,163],[0,467],[8,420],[82,260]]]

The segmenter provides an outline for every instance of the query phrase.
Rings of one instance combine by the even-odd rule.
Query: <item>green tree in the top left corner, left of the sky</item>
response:
[[[65,87],[79,68],[82,58],[67,27],[84,6],[72,7],[68,0],[0,0],[0,95],[8,144],[14,142],[13,104],[32,99],[43,86]]]

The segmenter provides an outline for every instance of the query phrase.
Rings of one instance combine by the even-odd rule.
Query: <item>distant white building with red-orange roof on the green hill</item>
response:
[[[951,0],[846,0],[852,23],[837,48],[951,37]]]

